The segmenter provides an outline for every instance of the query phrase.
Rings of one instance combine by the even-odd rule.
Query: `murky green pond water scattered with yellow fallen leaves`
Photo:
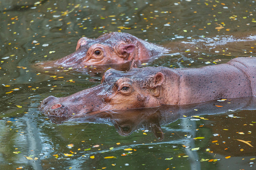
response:
[[[248,38],[256,35],[255,11],[254,0],[0,0],[1,168],[255,169],[254,99],[213,101],[198,115],[200,106],[189,106],[169,111],[179,116],[166,120],[155,108],[145,111],[150,118],[127,121],[128,134],[102,118],[56,124],[37,109],[41,100],[98,85],[101,74],[33,66],[72,53],[82,36],[111,31],[175,49],[143,66],[201,67],[256,56],[256,40]]]

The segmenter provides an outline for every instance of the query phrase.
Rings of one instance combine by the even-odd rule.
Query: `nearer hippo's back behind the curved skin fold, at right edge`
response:
[[[227,62],[241,70],[248,77],[252,95],[256,95],[256,57],[239,57]]]

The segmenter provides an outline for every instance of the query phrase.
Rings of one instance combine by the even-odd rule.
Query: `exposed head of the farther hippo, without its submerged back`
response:
[[[64,58],[40,62],[36,65],[44,69],[52,67],[81,68],[89,65],[120,65],[132,60],[148,60],[167,50],[148,43],[128,33],[112,32],[97,39],[82,37],[77,42],[76,51]]]

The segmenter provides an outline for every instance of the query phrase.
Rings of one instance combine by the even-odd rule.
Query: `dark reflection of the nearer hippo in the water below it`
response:
[[[220,104],[221,103],[221,104]],[[221,105],[222,107],[216,107]],[[178,119],[193,115],[215,115],[232,110],[256,110],[256,96],[234,98],[231,100],[212,100],[189,105],[161,105],[143,109],[112,110],[99,113],[85,113],[73,117],[59,117],[49,115],[54,123],[76,121],[82,123],[100,123],[113,125],[119,135],[128,136],[134,131],[149,130],[159,139],[164,139],[161,125],[168,125]]]

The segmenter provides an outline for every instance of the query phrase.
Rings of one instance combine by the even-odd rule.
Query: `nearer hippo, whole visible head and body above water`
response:
[[[185,105],[256,95],[256,57],[201,68],[109,69],[101,85],[73,95],[49,96],[41,102],[46,115],[67,116],[105,110]]]

